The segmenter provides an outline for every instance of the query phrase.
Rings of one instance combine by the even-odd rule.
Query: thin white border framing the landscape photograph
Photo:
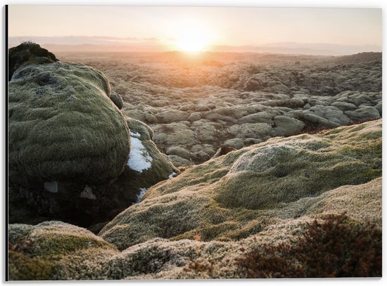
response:
[[[385,11],[384,8],[386,8],[387,1],[385,0],[127,0],[127,1],[101,1],[101,0],[81,0],[81,1],[74,1],[74,0],[39,0],[39,1],[22,1],[22,0],[8,0],[8,1],[1,1],[1,31],[2,33],[2,43],[1,46],[1,95],[3,97],[0,100],[0,108],[1,108],[1,117],[0,117],[0,132],[4,136],[5,135],[5,120],[4,120],[4,110],[5,110],[5,100],[4,100],[4,90],[5,90],[5,81],[4,81],[4,54],[5,54],[5,45],[4,45],[4,8],[3,6],[5,4],[9,5],[103,5],[103,6],[230,6],[230,7],[236,7],[236,6],[244,6],[244,7],[312,7],[312,8],[383,8],[382,16],[384,18]],[[386,25],[385,21],[383,20],[383,40],[386,38]],[[383,44],[384,47],[384,44]],[[385,56],[383,56],[383,70],[385,70],[386,65],[385,63]],[[383,72],[383,91],[385,86],[385,72]],[[383,110],[384,110],[383,106]],[[385,113],[386,114],[386,113]],[[4,173],[5,170],[3,170],[4,167],[4,160],[6,159],[4,154],[5,146],[4,144],[4,137],[2,137],[3,140],[1,141],[1,152],[0,152],[0,162],[1,162],[1,176],[0,176],[0,186],[1,186],[1,202],[4,204]],[[386,144],[383,144],[383,147]],[[383,148],[384,151],[385,148]],[[386,153],[386,152],[383,152]],[[384,166],[383,166],[384,167]],[[383,188],[384,190],[384,188]],[[1,242],[0,242],[0,257],[4,259],[4,247],[6,238],[4,236],[4,205],[0,208],[2,210],[1,212]],[[384,216],[384,215],[383,215]],[[385,216],[384,216],[385,217]],[[385,221],[385,220],[383,220]],[[386,228],[383,226],[383,234],[386,233]],[[383,242],[386,242],[386,235],[383,235]],[[383,257],[385,259],[383,263],[383,274],[386,274],[386,243],[383,243]],[[4,260],[1,261],[1,270],[0,270],[0,278],[1,282],[4,282]],[[160,284],[160,285],[169,285],[172,283],[172,285],[177,284],[185,284],[185,285],[196,285],[196,284],[203,284],[203,285],[220,285],[220,283],[226,283],[227,285],[234,285],[234,283],[243,283],[243,284],[256,284],[260,283],[263,285],[277,285],[277,284],[286,284],[286,285],[310,285],[312,282],[313,285],[326,285],[326,283],[329,283],[329,285],[364,285],[365,283],[369,283],[370,285],[381,285],[383,279],[333,279],[333,280],[324,280],[324,279],[297,279],[297,280],[167,280],[167,281],[127,281],[126,283],[131,283],[134,285],[153,285],[154,283]],[[95,281],[94,281],[95,282]],[[115,281],[117,282],[117,281]],[[110,285],[115,282],[98,282],[103,283],[104,285]],[[44,282],[44,284],[51,284],[53,282]],[[63,283],[63,282],[60,282]],[[82,282],[73,282],[73,284],[80,285]],[[23,285],[37,285],[37,282],[25,282]]]

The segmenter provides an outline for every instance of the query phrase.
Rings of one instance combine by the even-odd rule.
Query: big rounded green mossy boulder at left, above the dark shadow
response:
[[[9,164],[37,181],[101,183],[127,162],[129,129],[101,72],[22,65],[8,86]]]

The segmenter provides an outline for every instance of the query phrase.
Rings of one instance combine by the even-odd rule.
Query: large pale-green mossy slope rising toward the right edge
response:
[[[273,138],[158,183],[100,235],[119,249],[152,238],[238,240],[317,212],[330,190],[380,176],[381,120]]]

